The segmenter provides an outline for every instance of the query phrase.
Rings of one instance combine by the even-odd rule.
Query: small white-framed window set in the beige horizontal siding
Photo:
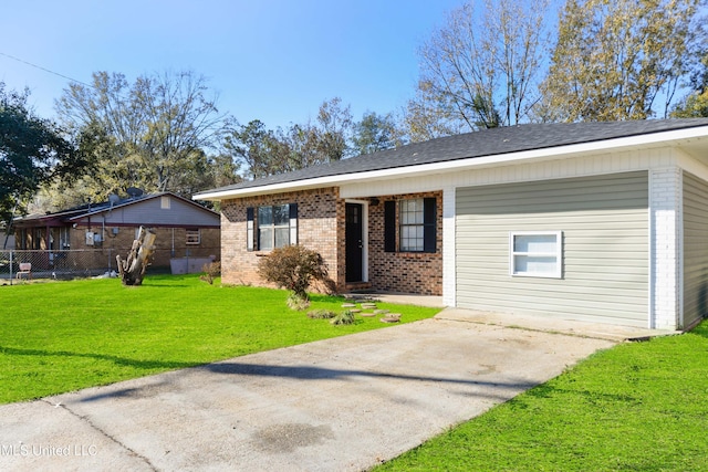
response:
[[[563,275],[563,232],[510,232],[509,273],[512,276],[560,279]]]

